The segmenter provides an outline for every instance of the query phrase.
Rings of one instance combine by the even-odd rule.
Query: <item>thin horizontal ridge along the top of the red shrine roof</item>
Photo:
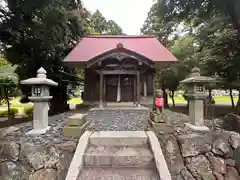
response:
[[[105,35],[88,34],[84,38],[156,38],[154,35]]]

